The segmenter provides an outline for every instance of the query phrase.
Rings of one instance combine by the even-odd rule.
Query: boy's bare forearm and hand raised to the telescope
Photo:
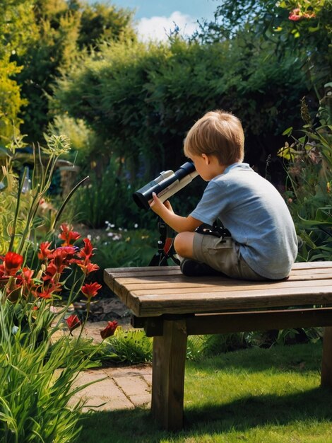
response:
[[[155,192],[153,192],[153,202],[151,202],[150,208],[176,232],[193,232],[202,224],[200,220],[194,219],[194,217],[190,215],[188,217],[181,217],[175,214],[170,202],[166,201],[162,203],[157,195],[155,195]]]

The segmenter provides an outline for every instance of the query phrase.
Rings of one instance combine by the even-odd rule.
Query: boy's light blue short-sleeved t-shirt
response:
[[[278,190],[247,163],[234,163],[213,178],[191,217],[232,234],[247,264],[262,277],[287,277],[297,255],[290,212]]]

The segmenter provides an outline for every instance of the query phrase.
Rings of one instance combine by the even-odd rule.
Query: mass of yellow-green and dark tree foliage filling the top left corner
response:
[[[36,142],[54,117],[48,101],[61,69],[102,40],[134,39],[132,13],[79,0],[0,0],[0,6],[0,135],[23,122]]]

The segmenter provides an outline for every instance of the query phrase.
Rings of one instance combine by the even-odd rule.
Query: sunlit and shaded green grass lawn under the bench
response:
[[[332,391],[319,387],[321,344],[247,349],[187,362],[184,430],[149,411],[83,415],[80,443],[332,442]]]

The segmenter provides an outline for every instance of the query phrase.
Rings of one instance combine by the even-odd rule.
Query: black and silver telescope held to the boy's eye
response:
[[[198,176],[194,163],[187,161],[175,172],[162,171],[158,177],[133,194],[134,202],[142,209],[150,209],[155,192],[162,202],[176,194]]]

